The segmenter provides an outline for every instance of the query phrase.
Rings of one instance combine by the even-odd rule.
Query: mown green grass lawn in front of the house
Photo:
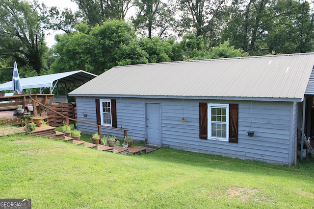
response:
[[[313,159],[298,168],[161,148],[123,156],[46,138],[0,138],[0,198],[34,209],[311,209]]]

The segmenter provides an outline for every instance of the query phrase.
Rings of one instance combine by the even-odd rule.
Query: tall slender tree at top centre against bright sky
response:
[[[166,34],[167,30],[173,28],[174,11],[171,4],[161,0],[135,0],[134,5],[137,8],[132,23],[138,31],[147,31],[149,39],[152,39],[153,31],[156,31],[158,37]]]

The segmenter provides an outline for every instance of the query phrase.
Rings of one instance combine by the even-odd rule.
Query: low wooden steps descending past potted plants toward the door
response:
[[[138,155],[140,153],[149,153],[158,148],[158,147],[152,148],[150,146],[145,147],[145,146],[134,146],[134,145],[132,145],[129,148],[124,148],[121,146],[109,147],[109,146],[105,146],[101,144],[93,144],[87,141],[74,140],[71,137],[66,137],[64,133],[56,131],[55,127],[45,126],[45,125],[36,127],[36,129],[28,133],[28,135],[34,136],[34,137],[35,136],[36,137],[48,137],[54,140],[71,141],[73,142],[73,144],[78,145],[78,146],[84,146],[87,148],[92,148],[92,149],[97,149],[101,151],[112,152],[112,153],[117,153],[117,154],[122,154],[122,155],[126,155],[126,154]]]

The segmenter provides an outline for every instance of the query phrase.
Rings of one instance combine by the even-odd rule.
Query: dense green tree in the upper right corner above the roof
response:
[[[291,9],[293,8],[293,9]],[[272,9],[285,13],[275,21],[265,42],[275,53],[311,52],[314,47],[314,14],[308,1],[285,1]]]

